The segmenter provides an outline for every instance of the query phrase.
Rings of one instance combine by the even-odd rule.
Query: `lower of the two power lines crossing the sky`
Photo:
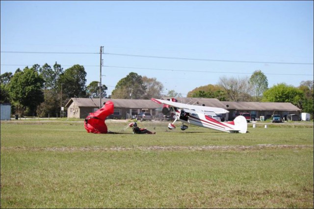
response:
[[[1,66],[32,66],[32,65],[6,65]],[[71,67],[71,65],[62,65],[65,67]],[[83,65],[84,67],[99,67],[96,65]],[[136,67],[122,67],[122,66],[107,66],[108,68],[123,68],[123,69],[141,69],[141,70],[165,70],[165,71],[181,71],[181,72],[206,72],[206,73],[232,73],[232,74],[253,74],[252,72],[228,72],[228,71],[205,71],[205,70],[173,70],[173,69],[158,69],[158,68],[136,68]],[[264,73],[265,75],[306,75],[313,76],[313,74],[287,74],[287,73]]]

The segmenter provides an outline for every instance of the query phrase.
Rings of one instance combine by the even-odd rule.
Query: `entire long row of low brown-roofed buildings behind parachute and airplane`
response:
[[[163,97],[162,99],[170,99]],[[111,100],[114,104],[114,114],[109,116],[111,119],[127,119],[140,112],[150,113],[153,118],[160,114],[162,104],[157,104],[150,99],[102,99],[102,102]],[[264,119],[270,118],[274,114],[300,115],[300,109],[291,103],[284,102],[228,102],[219,101],[216,98],[198,98],[198,97],[177,97],[178,102],[190,105],[199,105],[207,107],[219,107],[229,111],[228,114],[222,114],[225,120],[233,120],[237,113],[250,113],[252,118]],[[68,117],[85,118],[89,113],[99,109],[99,98],[71,98],[65,105]]]

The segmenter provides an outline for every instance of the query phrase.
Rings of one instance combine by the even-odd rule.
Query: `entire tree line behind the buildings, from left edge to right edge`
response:
[[[163,85],[156,78],[148,78],[130,72],[118,81],[111,95],[102,85],[102,98],[150,99],[162,96],[181,97],[181,93],[170,90],[163,94]],[[15,73],[1,74],[1,103],[12,105],[12,114],[21,116],[56,116],[71,98],[99,98],[98,81],[86,86],[86,71],[81,65],[63,70],[61,65],[51,67],[38,64]],[[286,83],[268,88],[267,77],[256,70],[251,77],[222,76],[216,85],[198,87],[187,97],[217,98],[220,101],[290,102],[313,118],[313,80],[302,81],[299,87]]]

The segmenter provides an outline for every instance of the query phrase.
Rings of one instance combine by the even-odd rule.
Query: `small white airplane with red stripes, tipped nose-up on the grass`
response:
[[[220,122],[212,117],[216,114],[229,113],[223,108],[183,104],[176,98],[171,98],[171,101],[156,98],[151,98],[151,100],[158,104],[164,104],[162,109],[164,115],[170,111],[175,114],[173,116],[175,120],[168,124],[170,130],[176,128],[174,123],[179,120],[182,122],[181,130],[183,131],[188,128],[184,123],[188,123],[227,133],[245,134],[247,132],[247,121],[244,116],[237,116],[233,121],[228,122]]]

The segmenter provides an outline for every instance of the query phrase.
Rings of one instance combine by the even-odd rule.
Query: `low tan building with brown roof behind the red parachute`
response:
[[[102,103],[111,100],[114,105],[113,115],[110,119],[131,119],[132,116],[141,112],[157,115],[156,109],[161,109],[162,105],[150,99],[102,99]],[[85,118],[89,113],[94,113],[99,109],[99,98],[71,98],[65,105],[67,116],[75,118]],[[103,106],[103,105],[102,105]]]

